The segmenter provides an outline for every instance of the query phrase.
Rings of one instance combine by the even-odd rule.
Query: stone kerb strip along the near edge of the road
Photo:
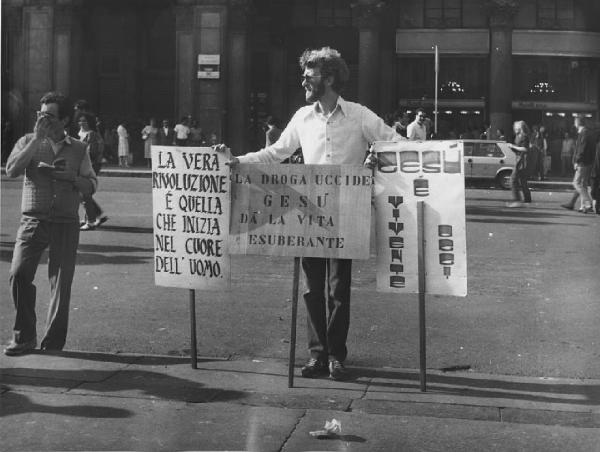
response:
[[[161,399],[166,403],[600,428],[599,380],[431,369],[427,392],[420,392],[418,369],[349,366],[354,376],[351,380],[298,377],[294,387],[288,388],[286,360],[199,360],[198,369],[193,370],[189,358],[161,355],[65,351],[1,357],[0,393],[44,393],[48,392],[46,386],[54,385],[65,396],[125,397],[140,403]],[[73,369],[80,373],[67,377]],[[132,377],[143,385],[132,387]],[[237,396],[232,398],[232,393]]]

